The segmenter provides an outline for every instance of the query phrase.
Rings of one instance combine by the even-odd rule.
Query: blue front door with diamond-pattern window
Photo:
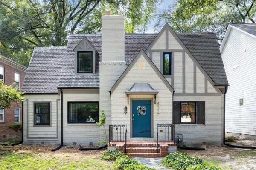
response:
[[[151,137],[151,101],[132,101],[132,136]]]

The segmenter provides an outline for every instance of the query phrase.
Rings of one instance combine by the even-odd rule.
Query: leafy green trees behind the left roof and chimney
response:
[[[158,1],[0,0],[0,52],[28,66],[36,46],[65,46],[69,33],[99,32],[105,10],[128,17],[128,32],[145,32]]]

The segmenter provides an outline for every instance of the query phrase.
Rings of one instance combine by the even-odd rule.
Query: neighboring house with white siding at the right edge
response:
[[[220,51],[230,84],[226,135],[256,139],[256,24],[229,24]]]

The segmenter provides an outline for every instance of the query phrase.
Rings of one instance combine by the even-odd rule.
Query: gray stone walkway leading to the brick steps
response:
[[[169,170],[168,168],[166,168],[162,164],[160,164],[160,161],[163,158],[139,158],[139,157],[135,157],[133,159],[140,162],[141,164],[147,165],[150,168],[155,168],[157,170]]]

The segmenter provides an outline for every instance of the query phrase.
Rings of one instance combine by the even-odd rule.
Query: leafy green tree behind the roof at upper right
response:
[[[177,0],[163,9],[155,29],[167,22],[176,32],[215,32],[222,40],[229,23],[255,23],[256,0]]]

